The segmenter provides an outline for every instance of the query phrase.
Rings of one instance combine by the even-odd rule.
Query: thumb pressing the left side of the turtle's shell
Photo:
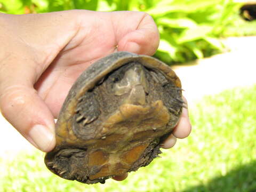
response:
[[[53,149],[53,117],[35,90],[22,86],[10,87],[1,95],[0,108],[7,121],[35,147],[42,151]]]

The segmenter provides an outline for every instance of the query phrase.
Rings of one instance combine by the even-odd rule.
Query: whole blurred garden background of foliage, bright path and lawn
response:
[[[0,12],[144,11],[161,37],[154,57],[181,78],[193,132],[122,181],[63,180],[0,117],[2,191],[256,191],[256,1],[0,0]]]

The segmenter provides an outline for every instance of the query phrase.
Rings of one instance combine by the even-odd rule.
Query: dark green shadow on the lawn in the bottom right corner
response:
[[[255,192],[256,161],[239,166],[225,176],[217,177],[206,185],[190,187],[182,192]]]

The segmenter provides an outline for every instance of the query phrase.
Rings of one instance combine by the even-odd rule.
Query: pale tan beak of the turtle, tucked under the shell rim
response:
[[[123,95],[128,93],[125,103],[134,105],[145,105],[146,94],[148,93],[148,81],[145,69],[140,64],[129,68],[123,79],[115,85],[115,94]]]

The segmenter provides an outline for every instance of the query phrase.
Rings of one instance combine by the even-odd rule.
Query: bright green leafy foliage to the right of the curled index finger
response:
[[[237,4],[223,0],[161,1],[148,11],[161,34],[156,56],[167,63],[185,62],[222,51],[217,37],[237,9]]]

